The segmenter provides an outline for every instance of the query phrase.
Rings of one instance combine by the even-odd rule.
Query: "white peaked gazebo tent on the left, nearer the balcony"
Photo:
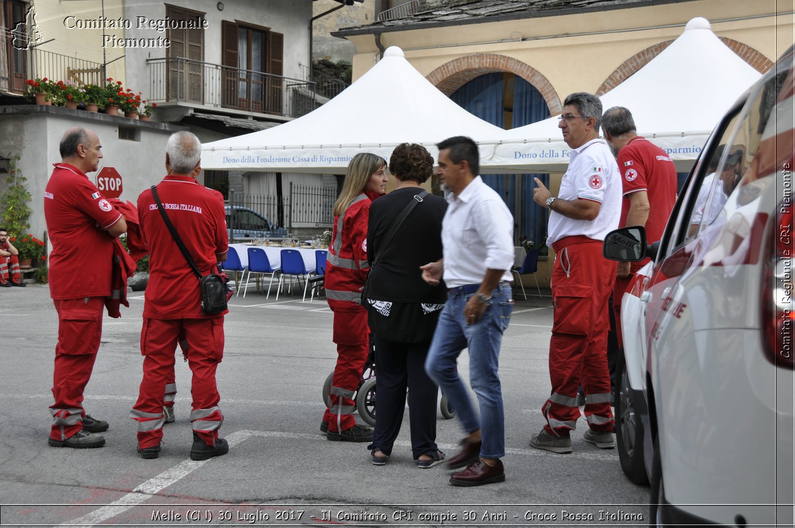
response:
[[[258,172],[343,174],[360,152],[389,159],[403,142],[438,157],[435,144],[467,135],[475,141],[504,130],[453,103],[417,72],[397,47],[345,91],[300,118],[203,146],[202,167]]]

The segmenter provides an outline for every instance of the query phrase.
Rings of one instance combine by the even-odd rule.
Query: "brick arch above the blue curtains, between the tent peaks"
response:
[[[558,115],[563,111],[560,97],[552,83],[537,69],[510,56],[495,53],[462,56],[442,64],[425,78],[439,88],[444,95],[452,95],[454,91],[475,77],[497,72],[513,73],[532,84],[546,101],[549,115]]]

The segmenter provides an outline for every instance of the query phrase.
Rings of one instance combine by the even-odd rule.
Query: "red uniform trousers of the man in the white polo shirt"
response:
[[[580,417],[577,389],[581,383],[588,425],[595,431],[612,431],[607,310],[616,264],[602,256],[601,242],[584,236],[561,239],[554,249],[555,314],[549,342],[552,394],[541,409],[547,420],[544,429],[558,436],[576,429]]]

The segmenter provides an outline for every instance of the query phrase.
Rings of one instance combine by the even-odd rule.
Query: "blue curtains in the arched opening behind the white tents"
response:
[[[450,99],[483,121],[505,128],[502,79],[502,73],[476,77],[450,95]],[[549,109],[541,93],[521,77],[514,77],[514,115],[510,126],[529,125],[548,117]],[[522,181],[522,225],[514,225],[514,232],[518,239],[524,235],[537,246],[542,246],[545,243],[547,215],[545,208],[533,202],[533,177],[549,185],[549,174],[483,174],[481,177],[485,184],[502,196],[514,219],[518,216],[515,211],[517,181]]]

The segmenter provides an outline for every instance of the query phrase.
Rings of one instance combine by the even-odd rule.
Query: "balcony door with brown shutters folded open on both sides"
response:
[[[284,35],[264,27],[223,21],[221,38],[223,106],[283,114]]]

